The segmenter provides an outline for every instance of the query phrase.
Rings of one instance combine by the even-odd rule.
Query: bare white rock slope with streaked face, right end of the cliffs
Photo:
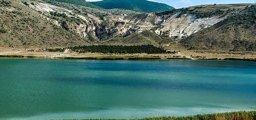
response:
[[[161,24],[163,28],[155,32],[158,35],[182,38],[208,28],[224,19],[218,16],[197,19],[195,15],[191,14],[183,14],[180,18],[177,18],[177,14],[174,14],[167,22]]]

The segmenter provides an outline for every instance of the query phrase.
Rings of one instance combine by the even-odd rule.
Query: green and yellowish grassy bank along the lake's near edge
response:
[[[150,117],[143,119],[63,119],[63,120],[256,120],[256,111],[199,114],[185,117]]]

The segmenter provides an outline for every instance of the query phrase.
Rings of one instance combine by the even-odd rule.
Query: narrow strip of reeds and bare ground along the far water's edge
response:
[[[85,59],[85,60],[139,60],[139,61],[148,61],[148,60],[211,60],[211,61],[256,61],[256,59],[247,59],[247,58],[199,58],[192,59],[188,57],[42,57],[42,56],[25,56],[25,55],[0,55],[0,58],[42,58],[42,59]]]

